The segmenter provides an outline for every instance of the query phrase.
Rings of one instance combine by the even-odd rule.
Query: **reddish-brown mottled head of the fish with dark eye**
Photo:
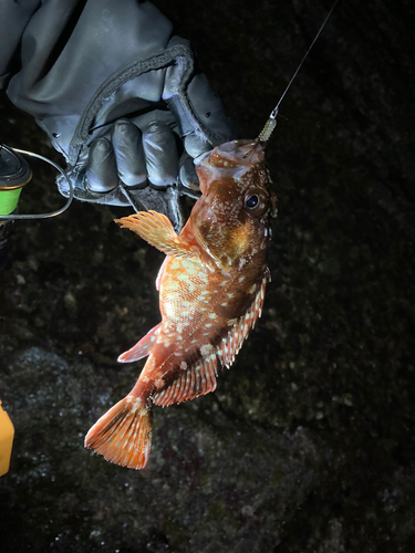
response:
[[[271,239],[277,197],[264,164],[264,145],[231,140],[196,159],[203,196],[189,227],[201,249],[224,274],[261,253]]]

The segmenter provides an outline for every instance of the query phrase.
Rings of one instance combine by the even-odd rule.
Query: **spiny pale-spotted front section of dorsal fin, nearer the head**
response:
[[[220,363],[228,368],[234,363],[239,349],[242,347],[242,344],[247,338],[249,331],[253,328],[258,317],[261,316],[266,286],[269,280],[270,272],[267,268],[261,283],[257,286],[256,295],[250,307],[247,310],[245,315],[236,319],[234,324],[232,321],[228,322],[229,325],[232,324],[231,331],[218,346],[218,357],[220,359]]]

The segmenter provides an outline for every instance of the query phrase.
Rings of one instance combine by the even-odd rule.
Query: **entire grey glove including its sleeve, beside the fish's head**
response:
[[[0,6],[0,84],[65,156],[75,197],[157,209],[178,228],[191,159],[235,137],[189,43],[149,2]]]

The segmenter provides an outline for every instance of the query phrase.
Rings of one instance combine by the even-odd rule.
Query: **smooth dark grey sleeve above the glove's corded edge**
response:
[[[154,71],[153,82],[144,90],[144,101],[160,101],[165,67],[174,58],[174,53],[166,54],[173,25],[152,3],[22,3],[25,8],[1,0],[3,83],[13,104],[32,114],[66,157],[80,118],[87,119],[84,127],[91,125],[96,113],[127,81]],[[4,32],[9,27],[13,28],[12,33]],[[146,64],[146,60],[152,62]],[[125,103],[128,92],[124,92]],[[97,102],[92,106],[94,98]],[[85,136],[80,139],[84,140]]]

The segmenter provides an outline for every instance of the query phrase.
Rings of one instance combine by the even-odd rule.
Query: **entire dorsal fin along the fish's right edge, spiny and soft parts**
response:
[[[200,347],[203,357],[190,367],[185,368],[168,387],[155,394],[155,405],[166,407],[167,405],[180,404],[214,392],[218,367],[221,365],[230,367],[249,331],[253,328],[257,319],[261,316],[266,285],[269,279],[267,269],[253,302],[245,315],[235,320],[229,334],[218,346],[203,345]]]

